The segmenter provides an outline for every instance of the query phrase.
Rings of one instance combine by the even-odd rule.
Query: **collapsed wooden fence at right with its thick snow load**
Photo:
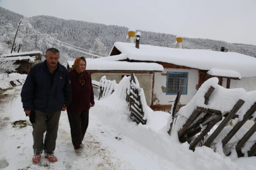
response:
[[[256,123],[249,130],[242,127],[247,120],[256,118],[256,91],[226,89],[218,85],[217,78],[212,78],[204,82],[177,115],[174,125],[173,119],[169,120],[168,132],[170,134],[175,129],[180,142],[189,142],[191,150],[205,145],[230,155],[234,148],[238,157],[250,157],[256,152]],[[235,127],[226,126],[235,118],[239,118]]]

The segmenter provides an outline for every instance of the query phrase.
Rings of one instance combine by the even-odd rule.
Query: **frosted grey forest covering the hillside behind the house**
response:
[[[6,25],[11,23],[14,27],[18,21],[23,18],[22,15],[13,13],[0,7],[0,23]],[[34,16],[26,18],[33,26],[34,30],[70,43],[77,47],[95,50],[97,44],[103,45],[101,53],[109,54],[115,42],[126,42],[127,31],[125,26],[103,25],[99,23],[90,23],[86,21],[63,20],[52,16]],[[156,33],[151,31],[136,30],[141,32],[141,43],[147,45],[156,45],[160,47],[175,47],[176,35],[166,33]],[[238,52],[245,55],[256,57],[256,46],[242,43],[228,43],[218,40],[209,40],[202,38],[183,38],[183,44],[191,49],[211,49],[219,51],[221,47],[227,47],[230,52]],[[47,47],[44,47],[47,48]],[[37,49],[38,50],[38,49]],[[44,52],[45,49],[42,48]],[[86,56],[80,52],[61,47],[62,52],[74,58]]]

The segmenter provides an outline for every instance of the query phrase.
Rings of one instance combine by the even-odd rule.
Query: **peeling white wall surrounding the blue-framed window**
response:
[[[199,81],[199,72],[197,69],[164,69],[163,73],[167,72],[188,72],[189,80],[187,86],[187,94],[182,94],[180,97],[181,105],[187,105],[190,99],[192,99],[197,93],[195,89]],[[154,73],[154,105],[172,105],[169,101],[176,98],[177,95],[166,95],[166,92],[162,91],[162,86],[166,88],[166,76],[162,76],[161,72]]]

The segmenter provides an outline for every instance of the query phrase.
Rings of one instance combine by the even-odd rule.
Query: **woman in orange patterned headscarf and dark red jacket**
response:
[[[86,60],[78,57],[74,61],[69,77],[72,86],[72,103],[67,107],[71,138],[76,153],[82,152],[82,141],[89,123],[89,109],[95,105],[91,76],[85,71]]]

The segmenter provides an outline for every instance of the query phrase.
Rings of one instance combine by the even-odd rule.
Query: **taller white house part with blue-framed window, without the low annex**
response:
[[[162,65],[163,72],[151,74],[153,110],[170,110],[169,101],[176,97],[177,91],[182,91],[180,103],[186,105],[209,77],[218,77],[225,88],[256,90],[256,59],[236,52],[141,44],[136,48],[134,43],[115,42],[109,57],[96,60]]]

